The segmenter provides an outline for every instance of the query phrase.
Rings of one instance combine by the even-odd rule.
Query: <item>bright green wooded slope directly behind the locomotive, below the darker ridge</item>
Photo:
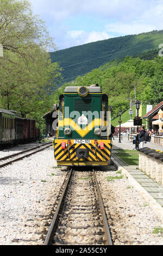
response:
[[[94,69],[84,76],[78,76],[71,83],[65,83],[55,92],[54,100],[66,86],[90,86],[98,83],[109,97],[112,117],[120,108],[125,112],[130,107],[130,98],[140,100],[143,105],[155,105],[163,100],[163,57],[143,60],[127,56],[122,62]]]

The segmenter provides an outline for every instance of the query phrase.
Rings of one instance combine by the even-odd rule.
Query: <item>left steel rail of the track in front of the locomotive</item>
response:
[[[72,175],[72,169],[70,169],[70,172],[68,173],[68,178],[66,180],[66,184],[65,184],[64,190],[61,193],[61,197],[60,197],[57,209],[55,210],[55,214],[53,216],[52,223],[51,223],[51,225],[49,227],[49,230],[48,230],[48,233],[46,235],[46,239],[45,239],[45,242],[43,243],[43,245],[51,245],[52,244],[53,233],[54,233],[55,227],[57,226],[59,211],[60,211],[61,206],[63,204],[65,192],[66,192],[67,186],[69,184],[71,175]]]

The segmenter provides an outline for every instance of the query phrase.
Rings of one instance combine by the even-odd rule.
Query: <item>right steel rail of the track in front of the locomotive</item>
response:
[[[103,222],[104,222],[106,245],[112,245],[109,225],[108,225],[108,221],[107,221],[107,218],[106,218],[106,213],[105,213],[105,208],[104,208],[101,192],[99,191],[99,186],[98,186],[98,181],[97,181],[97,178],[96,178],[95,170],[93,170],[93,178],[95,179],[95,184],[96,184],[98,198],[99,198],[99,206],[100,206],[100,210],[101,210],[102,218],[103,218]]]

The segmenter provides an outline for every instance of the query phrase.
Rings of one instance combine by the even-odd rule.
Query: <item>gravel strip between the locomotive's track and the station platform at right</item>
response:
[[[97,177],[114,245],[162,245],[162,222],[128,179],[112,169]]]

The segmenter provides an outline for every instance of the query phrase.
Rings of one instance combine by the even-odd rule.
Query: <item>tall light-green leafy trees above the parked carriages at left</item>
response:
[[[52,106],[44,89],[60,82],[61,68],[51,63],[48,52],[57,47],[28,1],[1,0],[0,44],[0,107],[41,118]]]

